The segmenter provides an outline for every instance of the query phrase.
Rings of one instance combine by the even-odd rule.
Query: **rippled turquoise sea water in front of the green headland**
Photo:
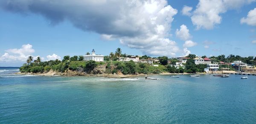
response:
[[[0,124],[256,122],[256,76],[22,76],[0,68]]]

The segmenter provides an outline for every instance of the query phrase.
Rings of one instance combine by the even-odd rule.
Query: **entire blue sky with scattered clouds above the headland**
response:
[[[0,67],[65,55],[256,56],[256,0],[1,0]]]

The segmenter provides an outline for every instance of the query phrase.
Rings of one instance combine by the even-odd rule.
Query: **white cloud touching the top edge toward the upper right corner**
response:
[[[237,9],[256,0],[199,0],[197,8],[193,11],[191,20],[196,29],[212,29],[220,24],[220,14],[229,9]]]

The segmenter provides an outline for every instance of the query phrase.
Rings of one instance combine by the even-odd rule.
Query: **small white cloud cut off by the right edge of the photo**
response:
[[[247,17],[243,17],[240,20],[241,24],[246,23],[247,25],[256,26],[256,8],[250,10]]]

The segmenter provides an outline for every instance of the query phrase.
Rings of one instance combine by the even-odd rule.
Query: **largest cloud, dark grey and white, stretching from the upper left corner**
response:
[[[148,55],[173,56],[179,48],[169,39],[177,9],[166,0],[1,0],[0,7],[12,12],[41,14],[58,24],[68,20],[83,31]]]

